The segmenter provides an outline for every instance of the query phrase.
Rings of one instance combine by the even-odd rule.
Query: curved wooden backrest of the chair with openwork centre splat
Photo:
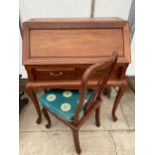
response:
[[[113,71],[116,65],[117,59],[118,54],[117,52],[114,52],[109,58],[107,58],[107,60],[91,65],[84,72],[80,88],[79,104],[77,106],[76,114],[73,119],[74,124],[77,124],[79,122],[79,114],[83,108],[89,78],[91,77],[91,75],[93,75],[93,73],[96,73],[98,71],[101,73],[101,75],[99,76],[100,78],[97,81],[96,88],[94,89],[93,94],[90,96],[87,102],[88,104],[86,104],[87,106],[85,110],[86,112],[93,106],[93,104],[95,104],[97,100],[101,99],[101,94],[106,86],[106,83],[111,75],[111,72]]]

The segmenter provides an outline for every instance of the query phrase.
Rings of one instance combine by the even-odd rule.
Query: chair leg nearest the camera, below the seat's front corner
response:
[[[72,129],[72,132],[73,132],[73,140],[74,140],[76,152],[77,152],[77,154],[80,154],[81,148],[80,148],[80,142],[79,142],[79,131]]]

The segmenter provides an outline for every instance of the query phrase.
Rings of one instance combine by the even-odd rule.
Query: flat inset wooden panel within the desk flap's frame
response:
[[[122,29],[31,30],[30,42],[31,59],[123,55]]]

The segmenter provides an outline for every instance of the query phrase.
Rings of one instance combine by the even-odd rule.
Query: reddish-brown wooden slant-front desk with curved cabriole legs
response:
[[[26,90],[37,114],[42,114],[34,89],[79,88],[85,69],[117,51],[119,58],[107,87],[118,86],[112,118],[127,87],[125,72],[130,63],[128,22],[120,18],[31,19],[23,24],[23,64]],[[89,81],[94,87],[100,73]],[[105,72],[106,74],[106,72]]]

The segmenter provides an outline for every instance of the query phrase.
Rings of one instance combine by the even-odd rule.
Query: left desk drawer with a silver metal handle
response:
[[[75,68],[36,68],[34,77],[37,81],[45,80],[69,80],[75,77]]]

